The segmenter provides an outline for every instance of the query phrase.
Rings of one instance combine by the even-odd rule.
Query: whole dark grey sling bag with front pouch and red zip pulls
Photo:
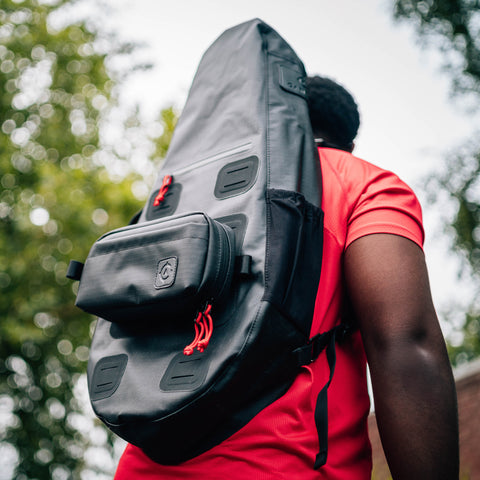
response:
[[[100,317],[93,409],[158,463],[228,438],[324,349],[333,374],[340,327],[310,338],[323,212],[304,79],[262,21],[224,32],[201,60],[138,222],[71,264],[76,304]],[[315,467],[326,461],[327,386]]]

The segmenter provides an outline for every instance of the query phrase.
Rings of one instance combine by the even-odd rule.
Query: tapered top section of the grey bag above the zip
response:
[[[266,188],[299,191],[319,205],[305,75],[293,49],[263,21],[226,30],[202,57],[157,184],[165,173],[244,152],[259,158]]]

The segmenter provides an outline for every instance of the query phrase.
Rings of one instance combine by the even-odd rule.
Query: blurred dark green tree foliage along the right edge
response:
[[[472,111],[480,103],[480,1],[479,0],[395,0],[394,17],[414,24],[424,46],[442,53],[445,72],[452,79],[452,93]],[[453,202],[454,213],[445,218],[452,249],[459,252],[463,266],[480,288],[480,142],[471,140],[449,154],[443,172],[429,180],[434,202]],[[461,322],[447,315],[457,340],[450,341],[454,364],[480,355],[480,304],[473,300]],[[460,340],[460,341],[458,341]],[[448,341],[448,338],[447,338]]]

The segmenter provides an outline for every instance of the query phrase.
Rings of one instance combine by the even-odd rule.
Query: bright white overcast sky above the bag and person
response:
[[[422,51],[409,24],[393,23],[393,0],[106,0],[104,21],[121,38],[144,41],[155,68],[134,75],[123,99],[145,116],[183,105],[203,52],[227,28],[259,17],[303,60],[307,72],[330,76],[360,105],[356,155],[393,170],[422,199],[422,178],[472,132],[473,121],[449,99],[438,53]],[[424,203],[424,202],[423,202]],[[425,208],[432,290],[437,306],[456,295],[456,262]]]

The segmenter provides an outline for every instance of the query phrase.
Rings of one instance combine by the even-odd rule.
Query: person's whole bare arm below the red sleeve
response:
[[[368,235],[347,248],[344,267],[393,479],[458,479],[455,384],[422,250]]]

